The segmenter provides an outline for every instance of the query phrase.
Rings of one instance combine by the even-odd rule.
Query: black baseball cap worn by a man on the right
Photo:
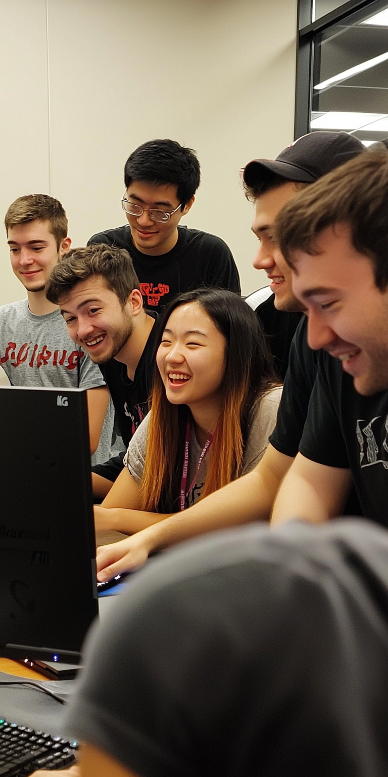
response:
[[[244,183],[255,188],[281,176],[285,181],[314,183],[327,172],[365,151],[348,132],[310,132],[297,138],[276,159],[253,159],[244,168]]]

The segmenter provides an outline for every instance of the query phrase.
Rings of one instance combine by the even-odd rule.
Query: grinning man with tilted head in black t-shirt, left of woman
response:
[[[47,298],[60,305],[71,339],[99,364],[127,448],[148,412],[156,317],[143,306],[130,256],[102,245],[72,250],[51,274]],[[106,497],[123,455],[92,468],[95,498]]]

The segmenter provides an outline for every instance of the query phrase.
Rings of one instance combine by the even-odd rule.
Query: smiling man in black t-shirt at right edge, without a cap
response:
[[[273,522],[341,513],[353,477],[363,514],[388,526],[388,155],[360,155],[278,220],[293,290],[320,354],[300,453]]]

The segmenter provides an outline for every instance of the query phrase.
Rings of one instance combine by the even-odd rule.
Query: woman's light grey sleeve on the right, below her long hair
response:
[[[276,386],[275,389],[271,389],[262,396],[262,399],[257,404],[252,416],[247,444],[245,445],[242,475],[251,472],[251,469],[255,468],[265,453],[268,437],[275,429],[281,396],[282,386]]]

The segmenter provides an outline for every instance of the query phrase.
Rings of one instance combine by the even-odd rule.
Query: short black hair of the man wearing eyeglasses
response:
[[[132,181],[148,181],[154,186],[172,183],[182,207],[196,193],[200,179],[196,152],[168,139],[147,141],[135,148],[124,167],[126,189]]]

